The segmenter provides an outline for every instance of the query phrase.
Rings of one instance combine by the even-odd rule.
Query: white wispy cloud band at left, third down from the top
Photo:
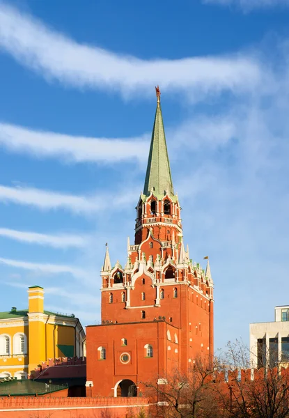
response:
[[[114,205],[129,206],[135,196],[133,191],[125,195],[114,194],[111,196],[75,196],[73,194],[61,194],[48,190],[31,187],[7,187],[0,185],[0,201],[12,202],[24,206],[33,206],[41,210],[65,209],[76,214],[95,213],[100,210],[109,210]]]

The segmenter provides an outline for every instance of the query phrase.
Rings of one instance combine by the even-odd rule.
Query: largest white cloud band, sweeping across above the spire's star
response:
[[[165,91],[210,93],[223,89],[250,91],[260,82],[253,56],[205,56],[184,59],[137,59],[100,47],[81,45],[42,22],[0,3],[0,47],[19,63],[49,79],[78,88],[141,91],[153,95],[155,84]],[[246,82],[244,82],[244,79]]]

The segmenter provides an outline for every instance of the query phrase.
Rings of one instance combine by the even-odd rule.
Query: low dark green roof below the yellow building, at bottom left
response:
[[[2,380],[0,379],[0,396],[20,396],[46,394],[47,392],[56,392],[64,389],[67,385],[47,385],[44,382],[35,382],[34,380]]]

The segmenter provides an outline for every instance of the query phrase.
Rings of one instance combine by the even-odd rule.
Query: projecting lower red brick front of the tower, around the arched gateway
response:
[[[117,382],[130,379],[139,386],[166,373],[166,327],[164,322],[95,325],[86,328],[89,344],[86,348],[87,376],[93,382],[89,395],[114,396]],[[178,331],[178,330],[177,330]],[[127,339],[122,346],[121,339]],[[146,358],[146,344],[153,346],[153,358]],[[107,350],[105,360],[98,359],[97,348]],[[129,353],[130,362],[120,362],[121,353]],[[102,379],[101,376],[104,376]]]

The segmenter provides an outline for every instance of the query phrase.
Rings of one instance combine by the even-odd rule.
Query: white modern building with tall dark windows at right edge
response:
[[[289,305],[275,307],[274,322],[250,324],[251,366],[289,362]]]

